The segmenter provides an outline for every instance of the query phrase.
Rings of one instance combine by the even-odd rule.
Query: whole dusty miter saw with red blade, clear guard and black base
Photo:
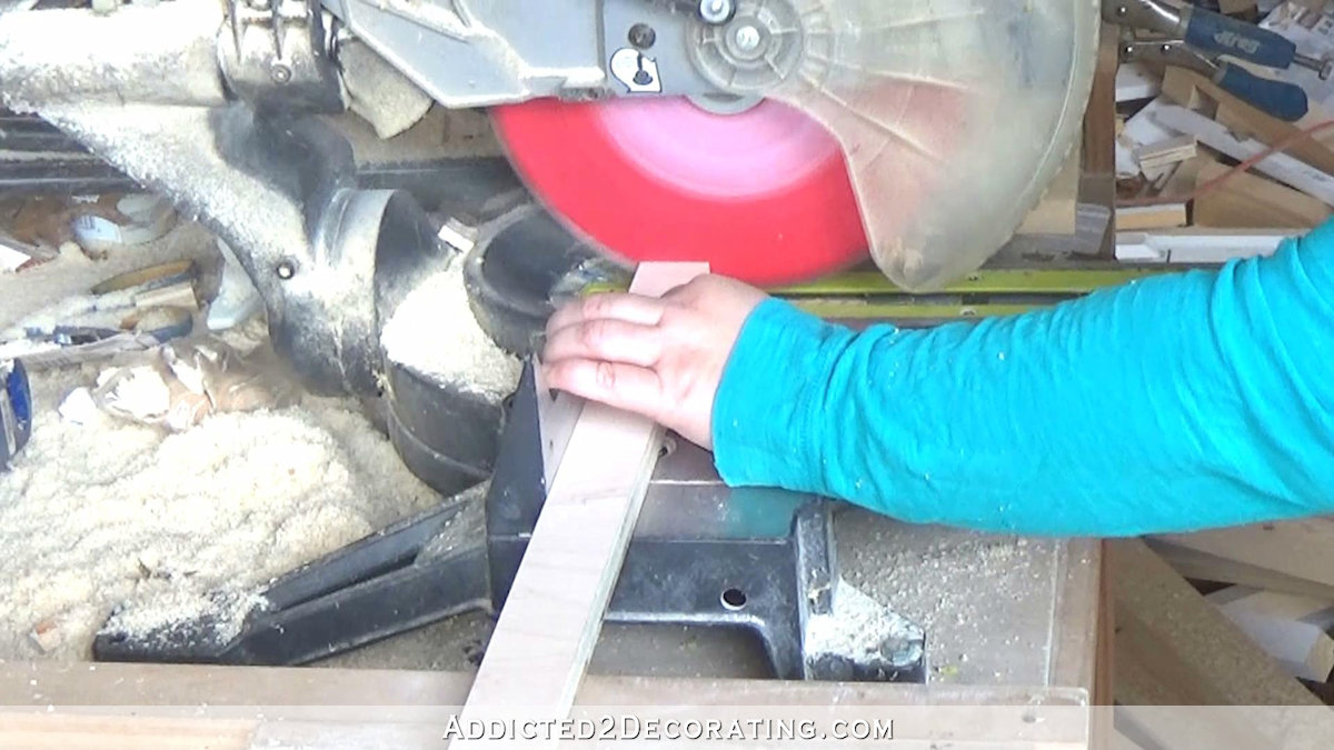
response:
[[[463,383],[427,383],[386,356],[384,323],[424,279],[503,238],[511,255],[707,260],[764,284],[870,258],[902,287],[940,287],[1011,236],[1066,160],[1101,23],[1095,0],[36,5],[0,15],[4,104],[40,115],[207,223],[255,282],[275,346],[307,383],[384,396],[396,447],[446,495],[491,474],[506,406]],[[520,207],[476,236],[442,234],[411,195],[362,179],[324,119],[350,103],[386,135],[432,103],[490,108],[543,208]],[[470,276],[470,292],[506,296],[508,287],[482,276]],[[531,348],[523,336],[503,343]],[[484,552],[432,544],[446,515],[462,512],[448,503],[276,583],[273,610],[256,613],[243,641],[201,645],[187,629],[159,658],[253,659],[300,622],[312,639],[288,638],[264,658],[304,661],[460,607],[499,606],[506,566],[542,502],[540,483],[516,484],[534,462],[540,468],[530,450],[540,440],[515,416],[519,406],[506,440],[527,468],[496,470]],[[612,615],[758,627],[784,675],[922,678],[911,635],[876,646],[882,662],[831,666],[803,654],[807,619],[838,609],[827,503],[744,500],[710,474],[707,456],[690,451],[662,464],[654,486],[667,515],[642,524],[627,570],[647,567],[623,573]],[[714,515],[683,524],[680,494],[714,503]],[[782,523],[770,528],[774,518]],[[722,563],[686,575],[688,566],[662,562],[732,559],[700,556],[706,547],[759,579],[728,583]],[[784,562],[751,565],[756,548]],[[779,569],[794,582],[763,573]],[[480,573],[448,601],[412,593],[439,590],[430,575],[444,570]],[[818,581],[807,581],[812,571]],[[386,605],[384,591],[406,603]],[[352,613],[352,599],[367,619],[329,634],[331,613]],[[99,639],[107,658],[152,658],[137,646]]]

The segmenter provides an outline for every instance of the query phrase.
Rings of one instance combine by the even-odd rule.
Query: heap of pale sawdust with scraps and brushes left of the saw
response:
[[[438,502],[360,403],[295,386],[168,202],[0,195],[0,661],[240,627],[273,577]]]

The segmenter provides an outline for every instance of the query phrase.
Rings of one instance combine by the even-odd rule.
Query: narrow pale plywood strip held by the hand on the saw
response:
[[[707,272],[700,263],[644,263],[630,290],[660,296]],[[651,419],[584,406],[468,694],[466,719],[516,709],[539,718],[568,714],[662,435]]]

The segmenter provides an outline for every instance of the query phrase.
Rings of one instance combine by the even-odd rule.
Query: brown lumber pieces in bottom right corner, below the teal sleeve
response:
[[[1194,544],[1190,536],[1183,539]],[[1273,655],[1277,645],[1301,650],[1323,635],[1318,626],[1301,622],[1315,601],[1242,587],[1202,595],[1154,551],[1170,544],[1170,539],[1109,543],[1119,706],[1115,746],[1323,746],[1334,735],[1334,711],[1322,705],[1318,690],[1295,679],[1291,659]],[[1330,610],[1330,602],[1315,606]],[[1306,627],[1298,638],[1283,629],[1298,623]],[[1306,655],[1302,667],[1314,667]]]

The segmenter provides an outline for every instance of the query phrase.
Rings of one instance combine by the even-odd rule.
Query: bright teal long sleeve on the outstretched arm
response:
[[[1334,512],[1334,223],[1274,256],[932,330],[747,319],[718,390],[732,486],[1042,535]]]

